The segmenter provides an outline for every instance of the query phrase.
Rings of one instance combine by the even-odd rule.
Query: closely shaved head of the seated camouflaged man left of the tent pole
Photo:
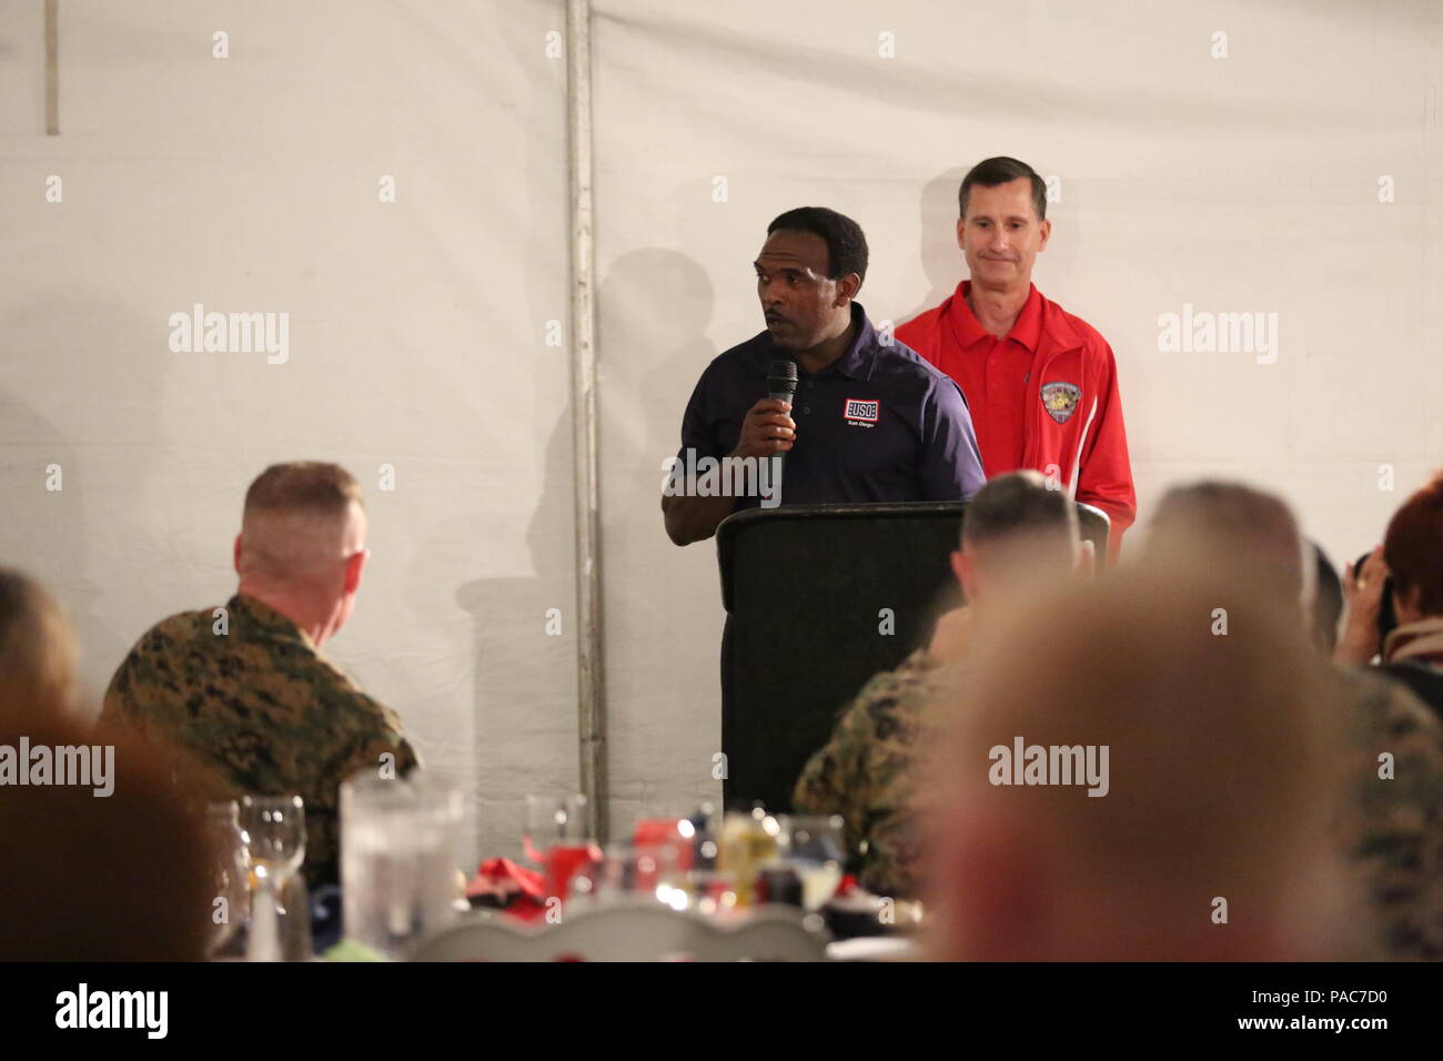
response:
[[[346,602],[359,586],[367,517],[361,485],[339,465],[271,465],[245,492],[237,572],[266,595]]]

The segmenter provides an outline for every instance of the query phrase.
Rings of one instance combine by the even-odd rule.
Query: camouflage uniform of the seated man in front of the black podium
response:
[[[915,767],[935,729],[926,706],[947,670],[919,648],[873,676],[792,793],[798,811],[841,814],[847,849],[863,849],[857,881],[876,895],[915,898],[921,885]]]

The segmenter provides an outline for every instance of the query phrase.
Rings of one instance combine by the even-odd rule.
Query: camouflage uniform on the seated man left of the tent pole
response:
[[[101,723],[166,741],[193,758],[219,798],[299,794],[306,801],[304,876],[339,878],[341,782],[395,756],[417,765],[400,719],[329,663],[294,622],[251,596],[159,622],[105,691]]]

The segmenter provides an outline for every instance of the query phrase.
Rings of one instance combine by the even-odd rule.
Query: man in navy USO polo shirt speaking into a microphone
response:
[[[786,453],[782,504],[968,499],[984,475],[967,403],[853,300],[867,274],[857,222],[801,206],[766,234],[753,263],[766,331],[707,365],[687,403],[661,499],[671,540],[709,538],[733,511],[760,504],[756,489],[688,489],[688,469],[707,458]],[[797,362],[792,403],[768,397],[778,358]],[[723,476],[723,485],[734,484]]]

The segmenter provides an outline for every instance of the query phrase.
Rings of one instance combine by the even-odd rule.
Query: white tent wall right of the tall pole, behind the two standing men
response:
[[[784,209],[856,218],[859,300],[902,320],[965,276],[968,166],[1056,176],[1036,283],[1113,345],[1141,523],[1169,484],[1245,479],[1341,566],[1443,463],[1431,0],[597,0],[595,17],[616,821],[710,784],[716,550],[667,540],[659,468],[707,361],[762,329],[750,261]],[[1163,352],[1159,318],[1185,303],[1276,313],[1276,361]]]

